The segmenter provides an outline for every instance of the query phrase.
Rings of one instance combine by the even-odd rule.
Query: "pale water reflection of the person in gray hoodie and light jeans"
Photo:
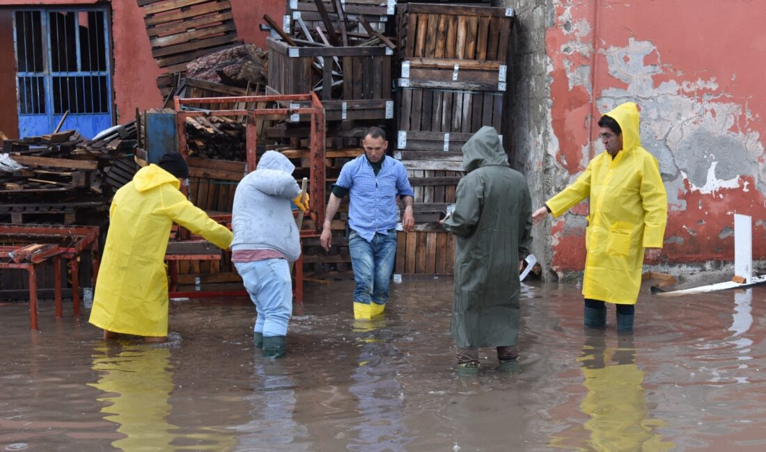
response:
[[[283,363],[267,361],[257,350],[254,376],[256,385],[245,397],[252,420],[233,428],[241,434],[236,450],[312,450],[306,426],[293,419],[296,384]]]

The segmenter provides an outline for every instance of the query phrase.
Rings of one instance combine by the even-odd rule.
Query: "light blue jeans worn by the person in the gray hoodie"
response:
[[[284,259],[265,259],[234,262],[234,266],[258,312],[254,332],[264,333],[264,337],[286,336],[287,322],[293,314],[290,264]]]

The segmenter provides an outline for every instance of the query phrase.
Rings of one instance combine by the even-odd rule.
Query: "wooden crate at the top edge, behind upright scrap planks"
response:
[[[396,3],[396,0],[344,0],[341,5],[345,21],[349,23],[347,32],[366,34],[365,29],[358,24],[359,16],[363,15],[372,28],[385,34],[393,28]],[[322,0],[322,4],[325,5],[329,19],[338,24],[339,18],[334,0]],[[287,0],[286,11],[286,33],[298,34],[302,31],[298,23],[299,18],[309,30],[319,27],[322,31],[327,31],[314,0]]]

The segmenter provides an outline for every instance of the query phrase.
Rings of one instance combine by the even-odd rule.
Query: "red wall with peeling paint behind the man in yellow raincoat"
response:
[[[659,158],[668,190],[665,259],[733,259],[733,213],[753,217],[753,257],[766,259],[766,46],[758,37],[766,2],[554,5],[546,47],[561,179],[574,180],[603,151],[592,145],[591,117],[632,100],[641,108],[642,144]],[[584,222],[575,216],[552,228],[558,272],[584,265]]]

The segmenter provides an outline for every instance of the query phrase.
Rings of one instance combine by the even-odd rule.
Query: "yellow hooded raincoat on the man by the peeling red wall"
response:
[[[641,147],[636,104],[607,113],[622,128],[623,149],[594,158],[580,177],[545,204],[558,217],[590,197],[585,247],[585,298],[636,304],[644,248],[662,248],[667,195],[660,165]]]

